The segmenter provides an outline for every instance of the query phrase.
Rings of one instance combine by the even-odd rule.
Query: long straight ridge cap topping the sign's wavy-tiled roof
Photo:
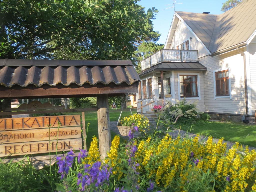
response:
[[[125,66],[130,60],[0,59],[0,66]]]

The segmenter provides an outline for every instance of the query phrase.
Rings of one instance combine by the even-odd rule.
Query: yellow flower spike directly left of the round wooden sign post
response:
[[[88,151],[88,156],[84,159],[84,164],[92,165],[96,161],[100,160],[100,152],[98,147],[98,139],[96,136],[92,137],[92,142]]]

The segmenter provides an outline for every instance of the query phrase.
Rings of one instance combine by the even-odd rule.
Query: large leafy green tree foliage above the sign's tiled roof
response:
[[[137,0],[0,0],[0,58],[131,59],[156,41]]]

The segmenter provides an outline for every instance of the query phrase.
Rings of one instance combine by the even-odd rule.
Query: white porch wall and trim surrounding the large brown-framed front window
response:
[[[197,108],[198,111],[204,112],[205,111],[205,103],[204,103],[204,74],[201,73],[201,71],[174,71],[174,90],[175,90],[175,103],[179,101],[178,97],[178,73],[180,74],[186,74],[186,73],[199,73],[200,77],[200,94],[201,94],[201,100],[198,99],[189,99],[186,98],[187,102],[193,103],[197,102]],[[198,93],[199,94],[199,93]],[[183,98],[181,98],[183,99]]]

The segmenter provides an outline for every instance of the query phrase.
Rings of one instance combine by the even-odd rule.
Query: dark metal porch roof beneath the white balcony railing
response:
[[[183,62],[179,62],[179,63],[173,63],[173,62],[163,62],[163,63],[159,63],[145,71],[142,71],[139,73],[139,75],[143,75],[146,74],[148,72],[151,72],[153,70],[157,70],[157,71],[168,71],[168,70],[207,70],[207,68],[205,66],[203,66],[201,63],[192,63],[192,62],[188,62],[188,63],[183,63]]]

